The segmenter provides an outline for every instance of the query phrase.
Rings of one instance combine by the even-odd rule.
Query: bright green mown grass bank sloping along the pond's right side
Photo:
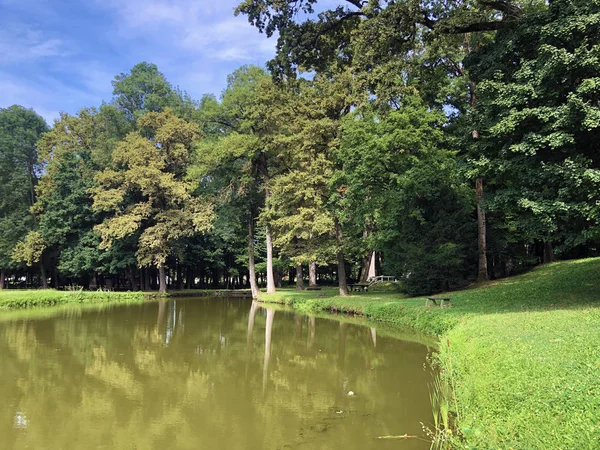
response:
[[[261,300],[344,311],[436,334],[452,371],[460,448],[600,448],[600,259],[554,263],[450,294],[282,291]]]

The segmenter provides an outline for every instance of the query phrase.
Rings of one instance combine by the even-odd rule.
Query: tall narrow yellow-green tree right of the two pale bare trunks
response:
[[[328,262],[335,254],[340,295],[348,295],[345,271],[343,215],[331,198],[339,186],[331,183],[333,154],[339,145],[341,117],[350,109],[347,73],[316,76],[288,86],[280,109],[275,142],[285,168],[272,180],[263,220],[272,224],[276,246],[296,264]],[[312,271],[312,268],[311,268]],[[311,285],[313,284],[311,277]]]

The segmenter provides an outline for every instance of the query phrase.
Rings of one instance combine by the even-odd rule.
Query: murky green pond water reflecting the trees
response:
[[[427,449],[424,345],[190,299],[0,322],[2,449]],[[348,395],[353,391],[355,395]]]

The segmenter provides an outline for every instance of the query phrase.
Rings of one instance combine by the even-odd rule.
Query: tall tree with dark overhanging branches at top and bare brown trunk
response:
[[[476,99],[476,85],[463,65],[471,41],[484,42],[490,32],[520,23],[526,11],[545,7],[543,2],[487,0],[345,0],[317,15],[318,3],[245,0],[237,7],[236,14],[246,15],[267,36],[279,35],[277,54],[268,64],[276,77],[293,78],[299,70],[330,74],[350,67],[360,89],[383,105],[416,87],[432,106],[460,112],[472,108]],[[468,133],[474,131],[471,128]],[[476,191],[480,199],[480,278],[487,279],[481,177],[477,177]]]

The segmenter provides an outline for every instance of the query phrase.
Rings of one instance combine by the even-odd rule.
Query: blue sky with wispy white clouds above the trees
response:
[[[0,107],[33,108],[51,124],[112,96],[141,61],[200,99],[227,74],[264,63],[275,40],[234,17],[238,0],[0,0]]]

